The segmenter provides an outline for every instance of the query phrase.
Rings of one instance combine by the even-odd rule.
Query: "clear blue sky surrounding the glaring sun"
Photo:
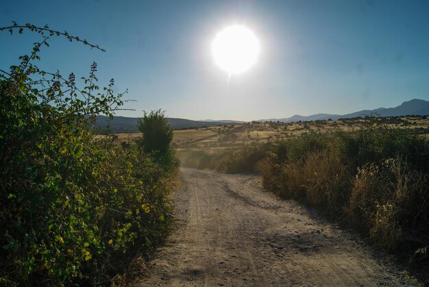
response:
[[[347,114],[429,100],[427,0],[2,1],[0,25],[48,24],[106,49],[53,38],[42,68],[129,90],[122,116],[166,110],[178,118],[284,118]],[[212,40],[251,29],[258,61],[240,75],[214,64]],[[0,68],[29,53],[37,34],[0,33]]]

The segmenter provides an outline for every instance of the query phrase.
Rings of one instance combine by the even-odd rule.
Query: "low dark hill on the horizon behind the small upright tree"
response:
[[[138,118],[129,118],[127,116],[115,116],[112,120],[108,116],[97,116],[95,127],[110,127],[112,132],[138,132]],[[168,123],[173,129],[196,128],[196,127],[215,127],[217,125],[236,125],[244,123],[238,121],[191,121],[185,118],[167,118]]]

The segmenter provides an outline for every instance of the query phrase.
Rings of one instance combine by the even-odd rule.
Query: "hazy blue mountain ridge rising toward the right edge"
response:
[[[317,121],[337,120],[339,118],[356,118],[358,116],[406,116],[408,114],[414,114],[419,116],[429,115],[429,101],[422,99],[412,99],[410,101],[404,101],[401,105],[395,108],[378,108],[375,110],[361,110],[353,112],[352,114],[313,114],[312,116],[291,116],[290,118],[269,118],[266,120],[259,121],[281,121],[283,123],[291,123],[295,121]]]

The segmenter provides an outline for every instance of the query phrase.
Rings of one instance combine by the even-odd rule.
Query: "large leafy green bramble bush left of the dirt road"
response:
[[[136,145],[95,139],[95,115],[123,103],[113,80],[99,91],[95,63],[82,90],[73,74],[32,64],[49,36],[86,41],[49,27],[10,29],[45,40],[0,74],[0,282],[107,284],[169,231],[173,172]]]

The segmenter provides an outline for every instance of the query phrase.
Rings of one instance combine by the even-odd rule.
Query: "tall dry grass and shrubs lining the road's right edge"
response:
[[[428,263],[428,168],[427,139],[380,126],[278,142],[257,164],[268,190],[420,263]]]

